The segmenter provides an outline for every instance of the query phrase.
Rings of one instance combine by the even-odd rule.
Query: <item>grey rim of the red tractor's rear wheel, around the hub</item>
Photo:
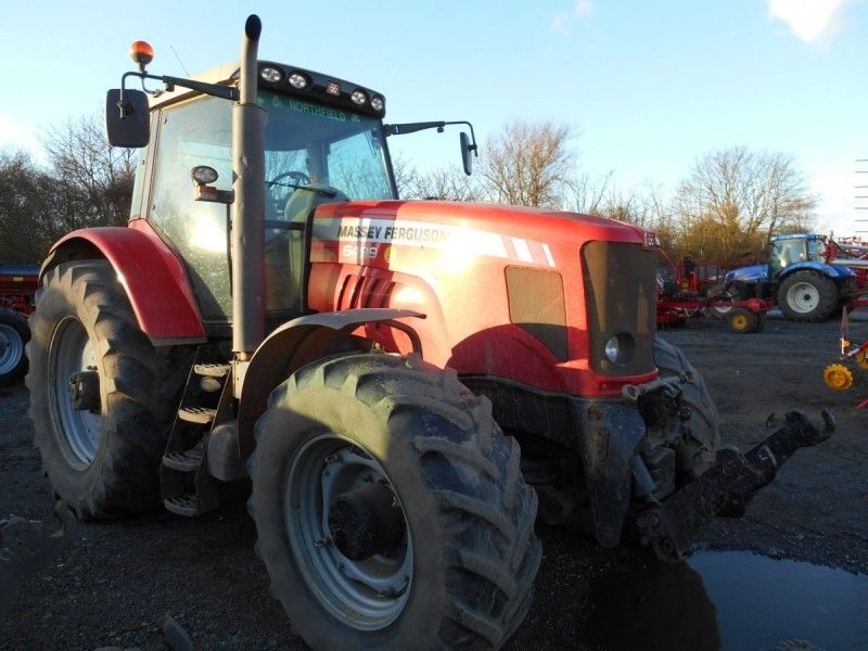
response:
[[[88,467],[97,458],[102,438],[102,416],[76,409],[69,396],[69,376],[97,369],[97,352],[78,319],[58,324],[51,341],[50,379],[53,416],[66,447],[78,465]]]

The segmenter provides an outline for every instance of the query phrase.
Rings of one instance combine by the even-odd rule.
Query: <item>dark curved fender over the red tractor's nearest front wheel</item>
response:
[[[396,319],[425,315],[409,309],[363,308],[309,315],[288,321],[259,345],[244,372],[238,408],[239,452],[247,457],[255,447],[253,426],[268,406],[268,396],[303,366],[329,355],[367,352],[373,342],[354,335],[359,327],[386,324],[407,334],[413,350],[422,354],[419,336]]]

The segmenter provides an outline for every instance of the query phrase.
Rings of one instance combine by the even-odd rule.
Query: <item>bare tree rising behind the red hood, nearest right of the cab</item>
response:
[[[513,205],[564,205],[575,173],[572,136],[569,126],[551,120],[507,124],[481,156],[486,193]]]

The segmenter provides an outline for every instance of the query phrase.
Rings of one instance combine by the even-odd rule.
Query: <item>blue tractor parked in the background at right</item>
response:
[[[729,271],[725,291],[733,299],[775,298],[792,321],[821,321],[858,292],[853,271],[830,264],[829,253],[825,235],[773,235],[768,263]]]

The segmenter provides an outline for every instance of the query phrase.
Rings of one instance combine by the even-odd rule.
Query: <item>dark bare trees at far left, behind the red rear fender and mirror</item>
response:
[[[108,146],[102,119],[71,120],[42,141],[44,162],[0,151],[0,264],[38,264],[78,228],[125,225],[135,158]]]

